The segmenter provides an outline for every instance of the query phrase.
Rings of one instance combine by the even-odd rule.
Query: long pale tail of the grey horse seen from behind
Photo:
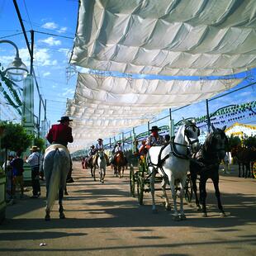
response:
[[[55,149],[55,154],[53,155],[53,169],[50,176],[49,191],[47,197],[47,208],[51,210],[54,206],[56,198],[58,198],[59,193],[59,183],[61,175],[61,154],[59,149]]]

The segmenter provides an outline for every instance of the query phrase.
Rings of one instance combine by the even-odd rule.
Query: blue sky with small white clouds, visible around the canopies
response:
[[[73,40],[77,14],[78,1],[76,0],[17,0],[20,8],[21,17],[26,26],[26,31],[33,29],[44,33],[52,33],[58,36],[43,35],[35,33],[35,70],[38,83],[40,85],[40,93],[47,101],[47,118],[50,123],[55,123],[60,116],[64,115],[65,102],[67,98],[73,98],[73,92],[76,84],[76,75],[69,78],[67,82],[66,68],[69,62],[69,52],[73,47]],[[17,13],[13,2],[10,0],[0,0],[0,37],[10,36],[21,33],[21,26],[18,21]],[[27,33],[30,38],[30,33]],[[61,36],[71,37],[71,39]],[[26,50],[26,42],[24,36],[10,36],[4,38],[12,40],[20,49],[21,59],[25,61],[29,67],[30,58]],[[0,62],[4,67],[12,60],[14,50],[11,45],[0,44]],[[250,75],[250,80],[244,81],[239,87],[254,81],[255,70],[251,73],[243,73],[242,76]],[[156,78],[156,77],[150,77]],[[163,78],[163,77],[162,77]],[[192,78],[197,79],[197,78]],[[21,84],[22,86],[22,84]],[[239,104],[255,100],[256,87],[249,87],[229,96],[210,103],[210,112],[216,111],[220,107],[230,104]],[[17,118],[12,111],[2,105],[1,118],[12,120]],[[35,113],[38,115],[38,95],[35,89]],[[168,111],[164,111],[160,116],[167,115]],[[182,116],[203,116],[206,114],[205,102],[193,104],[181,111],[173,113],[175,121],[179,121]],[[165,121],[168,124],[168,121]],[[244,120],[244,123],[255,123],[255,120]],[[157,123],[157,125],[162,125]]]

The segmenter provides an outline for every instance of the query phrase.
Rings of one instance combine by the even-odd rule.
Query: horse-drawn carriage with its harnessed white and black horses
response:
[[[137,195],[140,205],[143,204],[145,192],[151,192],[152,210],[156,211],[154,201],[154,183],[161,182],[164,193],[165,208],[170,208],[166,185],[168,185],[173,197],[173,219],[185,220],[183,211],[183,197],[190,202],[192,194],[195,195],[197,210],[202,207],[202,216],[206,213],[206,181],[211,178],[216,190],[216,199],[220,216],[225,216],[225,212],[220,201],[219,190],[219,166],[220,160],[225,157],[225,147],[227,137],[225,127],[222,129],[212,126],[212,132],[206,137],[206,141],[198,150],[200,135],[198,127],[192,123],[184,121],[178,132],[168,145],[164,147],[154,146],[149,149],[146,158],[140,160],[139,170],[130,168],[130,194]],[[188,152],[189,149],[194,157]],[[160,177],[157,176],[160,174]],[[199,179],[200,201],[197,197],[197,177]],[[135,193],[135,188],[137,194]],[[157,189],[159,190],[159,189]],[[180,212],[177,208],[177,191],[180,191]]]

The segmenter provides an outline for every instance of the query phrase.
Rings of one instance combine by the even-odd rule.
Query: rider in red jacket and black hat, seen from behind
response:
[[[50,142],[51,145],[60,144],[64,145],[67,148],[68,143],[73,142],[72,128],[69,127],[70,121],[69,116],[61,116],[59,124],[51,126],[46,139]],[[70,154],[69,154],[70,157]],[[73,183],[72,174],[72,161],[70,157],[70,169],[67,177],[67,183]]]

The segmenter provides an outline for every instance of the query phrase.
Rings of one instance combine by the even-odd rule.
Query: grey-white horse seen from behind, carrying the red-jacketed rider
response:
[[[45,220],[50,220],[50,211],[59,194],[59,219],[64,219],[62,201],[64,187],[70,168],[69,150],[64,145],[50,145],[45,150],[44,164],[46,182]]]

